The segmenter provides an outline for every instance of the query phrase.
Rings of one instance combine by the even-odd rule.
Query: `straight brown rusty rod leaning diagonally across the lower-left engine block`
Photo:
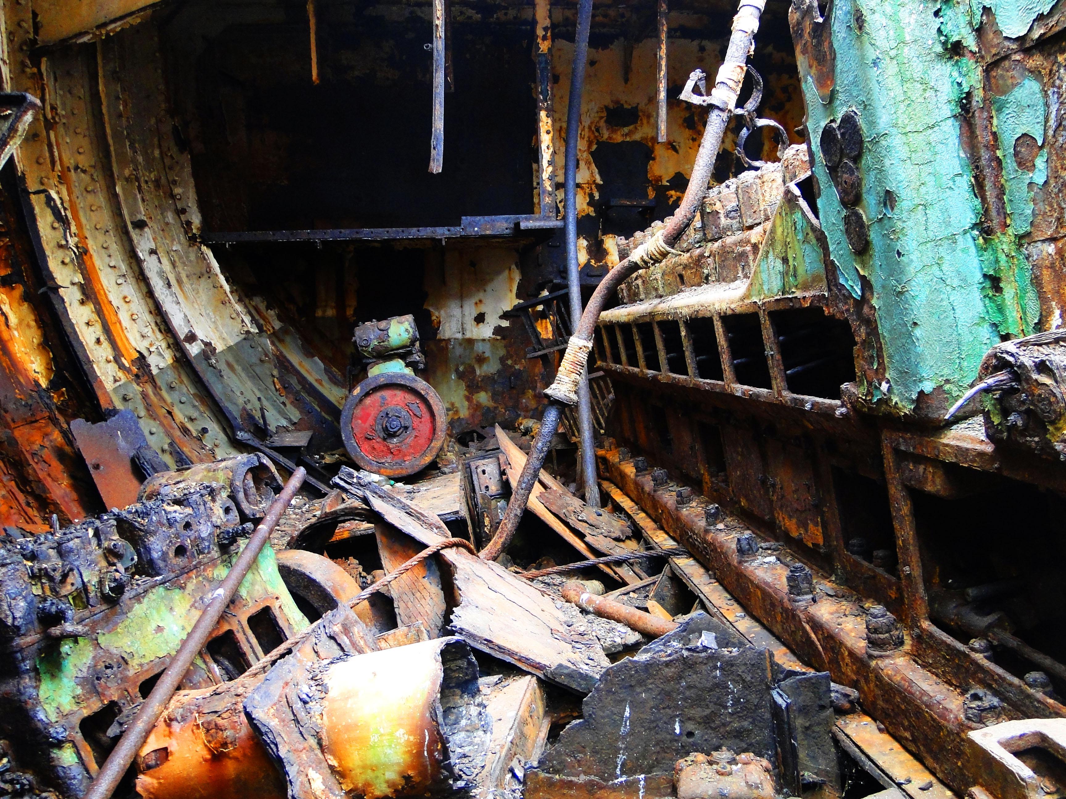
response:
[[[93,784],[88,786],[88,790],[85,792],[83,799],[110,799],[115,787],[117,787],[125,776],[126,769],[129,768],[133,759],[136,757],[136,753],[144,746],[144,741],[147,740],[148,733],[151,732],[159,717],[166,710],[167,703],[178,689],[178,684],[184,678],[185,672],[192,665],[193,658],[199,654],[200,650],[204,649],[204,645],[207,643],[208,636],[214,632],[215,626],[219,624],[219,619],[222,618],[222,614],[225,613],[230,600],[233,599],[233,594],[237,592],[245,575],[247,575],[248,570],[252,569],[252,565],[259,557],[259,552],[262,550],[263,544],[270,540],[270,534],[277,525],[281,513],[289,507],[292,498],[296,495],[296,491],[304,483],[304,477],[306,476],[307,472],[303,467],[300,467],[289,477],[289,482],[285,484],[281,493],[271,504],[266,516],[263,517],[259,526],[256,527],[252,537],[248,538],[248,542],[241,550],[241,554],[238,555],[237,560],[225,578],[214,592],[211,593],[210,602],[208,602],[207,607],[204,608],[204,613],[200,614],[199,618],[196,619],[196,623],[189,631],[189,635],[181,642],[181,646],[174,655],[174,659],[171,661],[171,665],[160,674],[159,680],[156,682],[156,687],[151,689],[147,699],[144,700],[141,710],[138,711],[136,716],[118,739],[118,744],[111,750],[111,754],[108,755],[108,760],[104,761],[100,770],[96,773],[96,778],[93,780]]]

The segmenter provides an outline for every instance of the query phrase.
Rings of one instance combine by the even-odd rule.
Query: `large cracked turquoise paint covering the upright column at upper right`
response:
[[[845,209],[820,156],[813,165],[822,187],[819,216],[841,283],[855,297],[869,287],[887,398],[909,411],[938,388],[949,398],[960,396],[1001,333],[1035,324],[1035,293],[1016,238],[987,241],[980,232],[981,203],[958,115],[962,99],[981,81],[971,62],[948,47],[964,34],[972,40],[966,9],[949,0],[841,0],[831,9],[836,83],[823,102],[804,76],[808,129],[817,153],[829,120],[849,109],[859,113],[866,251],[855,255],[847,246]],[[1041,101],[1034,115],[1043,108]],[[1032,121],[1024,116],[1020,124]]]

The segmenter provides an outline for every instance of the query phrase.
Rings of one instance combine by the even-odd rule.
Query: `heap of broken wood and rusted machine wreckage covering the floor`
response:
[[[114,796],[770,799],[871,779],[841,760],[855,691],[738,612],[616,486],[605,507],[578,499],[572,451],[481,556],[532,443],[491,434],[408,484],[342,467],[290,504],[292,480],[242,456],[155,474],[53,535],[9,533],[22,794],[94,795],[217,581],[268,537]]]

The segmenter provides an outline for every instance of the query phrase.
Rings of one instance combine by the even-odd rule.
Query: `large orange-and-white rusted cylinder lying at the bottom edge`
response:
[[[490,721],[462,639],[323,662],[309,652],[279,663],[270,678],[275,686],[242,678],[176,696],[138,756],[138,793],[284,799],[287,781],[311,772],[323,796],[383,799],[473,787],[488,756]],[[260,686],[279,686],[285,698],[269,695],[264,708]]]

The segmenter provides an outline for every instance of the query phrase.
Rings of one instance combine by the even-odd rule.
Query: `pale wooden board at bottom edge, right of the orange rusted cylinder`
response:
[[[544,688],[535,676],[482,678],[481,682],[484,686],[491,680],[498,682],[482,688],[485,710],[492,717],[492,737],[485,769],[478,778],[474,796],[479,799],[495,799],[499,792],[521,786],[526,767],[537,755],[546,718]]]

